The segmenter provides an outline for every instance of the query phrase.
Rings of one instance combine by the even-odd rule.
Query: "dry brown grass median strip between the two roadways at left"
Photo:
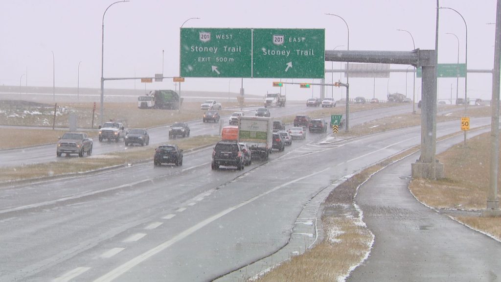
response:
[[[220,136],[218,135],[201,135],[172,140],[169,141],[169,144],[177,144],[180,149],[190,150],[204,145],[215,144],[219,140]],[[130,148],[126,151],[106,155],[86,158],[75,157],[62,159],[58,162],[5,168],[2,170],[2,174],[0,174],[0,182],[36,179],[74,173],[78,174],[101,168],[147,161],[153,158],[154,148],[156,148],[155,145],[150,145],[146,147]]]

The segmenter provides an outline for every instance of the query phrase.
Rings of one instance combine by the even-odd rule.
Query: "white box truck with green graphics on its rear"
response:
[[[246,143],[253,159],[268,161],[273,145],[273,119],[261,116],[240,116],[238,142]]]

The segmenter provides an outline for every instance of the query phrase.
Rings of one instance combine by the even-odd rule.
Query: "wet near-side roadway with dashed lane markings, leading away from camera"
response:
[[[440,123],[437,135],[456,123]],[[216,278],[281,248],[313,195],[419,144],[420,129],[320,145],[323,137],[309,134],[241,172],[210,170],[209,148],[183,167],[138,164],[4,188],[0,280]]]

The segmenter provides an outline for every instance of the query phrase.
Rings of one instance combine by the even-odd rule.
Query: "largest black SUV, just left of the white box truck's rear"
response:
[[[233,140],[219,141],[212,152],[213,170],[219,169],[219,166],[234,166],[238,170],[242,170],[244,166],[242,147]]]

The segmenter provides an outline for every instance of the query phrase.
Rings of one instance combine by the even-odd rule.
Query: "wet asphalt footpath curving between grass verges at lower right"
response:
[[[462,136],[437,144],[437,153]],[[499,281],[501,243],[419,203],[407,189],[414,154],[374,175],[356,202],[375,235],[348,281]]]

